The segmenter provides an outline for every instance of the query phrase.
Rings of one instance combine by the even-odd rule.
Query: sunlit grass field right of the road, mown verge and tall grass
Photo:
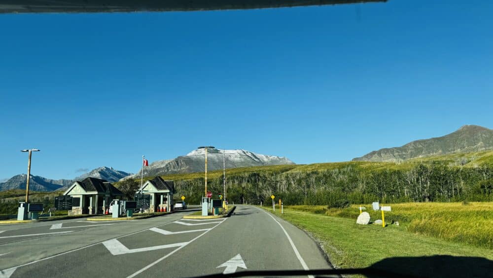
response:
[[[492,248],[476,246],[478,242],[473,242],[475,245],[468,242],[469,234],[467,230],[470,227],[477,226],[477,224],[462,226],[464,225],[464,219],[461,219],[472,215],[476,216],[476,221],[481,220],[482,211],[491,208],[493,203],[474,203],[463,207],[460,203],[433,204],[432,209],[428,212],[428,215],[432,217],[424,217],[428,221],[432,221],[432,225],[445,225],[445,228],[438,227],[432,233],[427,232],[431,230],[429,227],[421,231],[420,229],[423,229],[421,228],[421,222],[418,224],[415,222],[416,217],[428,211],[425,205],[414,203],[393,204],[393,211],[388,213],[390,222],[392,218],[399,218],[398,215],[405,215],[407,218],[405,220],[403,220],[404,218],[399,218],[400,226],[391,224],[386,228],[383,228],[382,225],[373,224],[357,225],[356,217],[359,214],[359,210],[356,206],[340,209],[339,211],[335,209],[327,210],[323,206],[286,206],[284,214],[280,214],[278,210],[275,214],[317,238],[331,262],[338,268],[369,267],[391,257],[452,255],[482,257],[493,260]],[[366,207],[369,208],[369,206]],[[270,207],[263,208],[272,212]],[[440,209],[441,217],[439,217]],[[461,213],[455,214],[455,212]],[[375,213],[371,213],[371,215],[372,221],[377,219]],[[457,223],[454,220],[449,221],[453,217],[457,218]],[[378,217],[378,219],[380,218]],[[491,233],[493,224],[491,219],[489,223],[484,221],[476,222],[483,226],[474,229],[475,233],[482,236],[482,238],[491,235],[488,234]],[[444,223],[444,221],[447,223]],[[489,232],[482,233],[481,230],[483,228],[489,229],[487,230]],[[440,234],[443,229],[456,231],[455,236],[448,238],[452,236],[452,232],[445,233],[445,235]],[[405,266],[399,267],[406,269]],[[412,268],[413,266],[410,265],[408,267]]]

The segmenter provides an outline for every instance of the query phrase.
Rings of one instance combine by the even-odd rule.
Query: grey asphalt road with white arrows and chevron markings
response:
[[[256,207],[239,205],[235,215],[223,219],[181,219],[186,213],[190,210],[133,221],[1,225],[0,278],[195,277],[330,268],[308,235]]]

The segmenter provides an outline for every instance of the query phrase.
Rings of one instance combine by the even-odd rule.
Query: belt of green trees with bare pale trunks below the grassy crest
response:
[[[176,193],[199,203],[204,179],[175,181]],[[208,180],[214,196],[222,193],[223,179]],[[285,204],[492,201],[493,167],[458,167],[441,162],[419,163],[407,169],[362,171],[354,165],[299,172],[255,172],[227,176],[230,203],[269,203],[274,194]]]

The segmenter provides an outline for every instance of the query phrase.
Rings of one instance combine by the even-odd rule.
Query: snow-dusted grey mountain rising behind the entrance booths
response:
[[[207,169],[209,171],[223,168],[223,152],[226,160],[226,168],[238,168],[262,165],[283,165],[295,164],[293,161],[276,156],[256,154],[246,150],[218,150],[209,149],[207,151]],[[159,160],[149,164],[144,168],[144,176],[157,176],[175,173],[193,173],[204,171],[205,150],[198,149],[180,156],[176,159]],[[138,178],[141,171],[128,178]]]

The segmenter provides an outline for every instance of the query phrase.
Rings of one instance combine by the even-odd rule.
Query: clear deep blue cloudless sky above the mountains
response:
[[[0,178],[197,146],[345,161],[493,127],[493,2],[0,15]]]

